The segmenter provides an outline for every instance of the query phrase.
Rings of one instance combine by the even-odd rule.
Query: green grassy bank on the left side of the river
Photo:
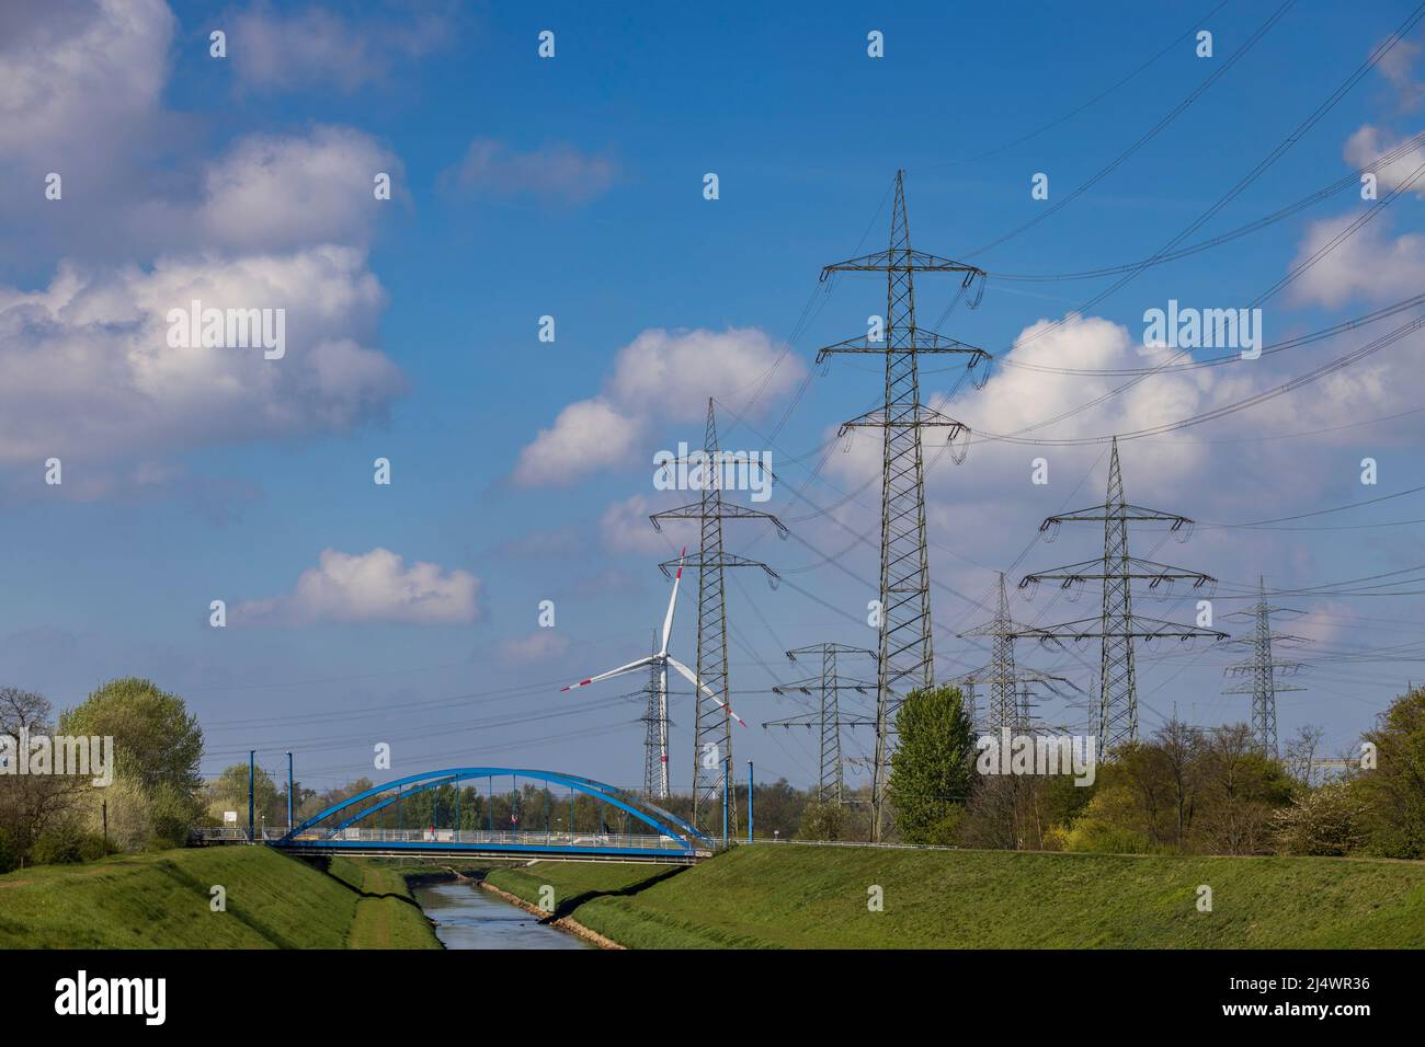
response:
[[[195,848],[0,876],[4,949],[439,947],[405,882],[365,863],[332,873],[268,848]],[[227,890],[227,912],[209,907]]]

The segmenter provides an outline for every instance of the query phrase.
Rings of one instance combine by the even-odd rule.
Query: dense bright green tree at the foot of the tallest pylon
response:
[[[958,687],[916,689],[895,718],[886,783],[906,843],[958,843],[975,775],[975,729]]]

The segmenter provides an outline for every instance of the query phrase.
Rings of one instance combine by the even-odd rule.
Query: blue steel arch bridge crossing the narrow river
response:
[[[527,792],[520,792],[520,782],[543,782],[544,788],[536,793],[542,809],[530,812],[520,809],[529,796]],[[482,813],[483,828],[472,826],[475,821],[472,818],[466,818],[465,822],[460,819],[460,792],[467,783],[475,783],[477,789],[484,785],[479,789],[484,793],[482,799],[486,801]],[[426,823],[408,828],[403,803],[415,795],[446,785],[455,786],[455,802],[446,802],[443,806],[439,802],[432,803],[429,815],[422,819]],[[561,809],[563,798],[554,801],[551,795],[554,788],[567,791],[567,811]],[[289,783],[288,796],[291,795]],[[593,799],[594,803],[590,805],[587,801],[577,803],[583,796]],[[494,816],[496,798],[510,801],[510,811],[499,821]],[[590,806],[594,811],[590,811]],[[376,828],[368,821],[379,812],[388,812],[379,821],[389,823],[392,808],[395,828],[389,825]],[[422,813],[426,813],[425,805]],[[449,828],[443,828],[442,821]],[[198,829],[194,833],[194,843],[200,846],[265,843],[294,855],[480,856],[667,863],[695,862],[718,848],[711,838],[643,796],[591,778],[524,768],[462,766],[398,778],[333,803],[298,825],[292,823],[289,806],[288,825],[285,829],[254,825],[254,798],[249,783],[247,828]]]

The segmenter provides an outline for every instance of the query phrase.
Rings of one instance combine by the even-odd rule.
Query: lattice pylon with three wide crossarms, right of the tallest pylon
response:
[[[1102,506],[1074,513],[1050,516],[1039,524],[1039,533],[1052,540],[1062,523],[1103,521],[1103,557],[1086,560],[1052,571],[1026,574],[1020,588],[1036,587],[1054,580],[1064,590],[1084,581],[1103,583],[1103,613],[1097,618],[1082,618],[1060,625],[1046,625],[1016,631],[1017,637],[1035,637],[1042,642],[1060,644],[1063,640],[1099,640],[1099,752],[1110,754],[1124,742],[1139,736],[1139,688],[1133,665],[1134,640],[1194,640],[1211,637],[1227,640],[1227,634],[1213,628],[1180,625],[1171,621],[1133,614],[1130,585],[1147,581],[1150,590],[1167,583],[1193,583],[1194,590],[1216,585],[1210,574],[1186,567],[1170,567],[1129,554],[1129,523],[1166,523],[1178,541],[1186,541],[1193,521],[1177,513],[1134,506],[1123,497],[1123,472],[1119,467],[1119,439],[1113,439],[1109,457],[1109,491]]]

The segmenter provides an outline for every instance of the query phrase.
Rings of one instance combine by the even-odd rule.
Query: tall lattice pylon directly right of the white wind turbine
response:
[[[654,513],[648,519],[663,530],[664,520],[697,520],[700,540],[697,557],[688,558],[698,568],[698,667],[703,687],[694,687],[695,717],[693,728],[693,825],[712,828],[712,818],[722,803],[722,776],[732,766],[732,721],[728,705],[731,691],[727,674],[727,601],[722,593],[722,571],[727,567],[761,567],[777,583],[777,571],[764,563],[722,551],[724,520],[767,520],[778,537],[787,537],[787,527],[771,513],[761,513],[722,500],[722,469],[718,464],[717,419],[712,397],[708,397],[707,433],[703,452],[708,464],[703,469],[703,496],[687,506]],[[680,463],[670,463],[680,464]],[[700,463],[701,464],[701,463]],[[691,472],[691,470],[690,470]],[[660,564],[667,574],[677,560]],[[737,805],[728,812],[728,826],[737,836]]]

